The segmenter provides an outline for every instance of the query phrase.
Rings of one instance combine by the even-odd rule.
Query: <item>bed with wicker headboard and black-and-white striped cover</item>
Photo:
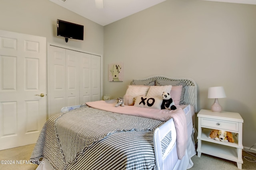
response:
[[[163,90],[170,91],[176,110],[151,107],[159,99],[153,94]],[[145,105],[138,106],[140,98]],[[167,76],[132,80],[124,101],[124,107],[115,107],[116,100],[64,107],[44,124],[30,160],[38,162],[38,170],[185,170],[193,166],[194,80]]]

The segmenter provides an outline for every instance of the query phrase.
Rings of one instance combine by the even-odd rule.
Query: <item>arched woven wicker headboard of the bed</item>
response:
[[[166,85],[168,82],[170,84],[168,85],[180,85],[182,84],[185,88],[184,92],[184,102],[185,104],[190,104],[191,106],[194,106],[194,111],[197,112],[197,85],[194,80],[191,78],[172,78],[168,76],[150,76],[143,79],[134,79],[130,83],[131,85],[146,85],[146,86],[155,86],[158,85],[157,82],[166,82]]]

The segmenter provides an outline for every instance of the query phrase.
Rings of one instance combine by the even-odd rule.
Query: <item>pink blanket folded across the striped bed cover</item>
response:
[[[143,108],[143,107],[135,107],[135,106],[115,106],[114,102],[105,102],[103,100],[96,102],[87,102],[88,106],[101,109],[105,111],[111,111],[115,113],[134,115],[140,117],[148,117],[151,119],[157,119],[160,121],[168,121],[169,119],[174,119],[174,124],[176,127],[177,133],[177,151],[178,158],[181,160],[186,152],[186,143],[188,140],[188,132],[187,132],[187,123],[186,116],[184,111],[181,108],[176,110],[168,110],[168,109],[151,109],[151,108]]]

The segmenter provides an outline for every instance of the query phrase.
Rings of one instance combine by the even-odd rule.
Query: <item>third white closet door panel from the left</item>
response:
[[[91,101],[91,55],[82,53],[80,70],[80,102]]]

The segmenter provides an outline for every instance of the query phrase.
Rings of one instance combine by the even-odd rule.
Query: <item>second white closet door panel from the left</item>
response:
[[[81,57],[82,53],[66,49],[66,106],[80,104],[79,69]]]

